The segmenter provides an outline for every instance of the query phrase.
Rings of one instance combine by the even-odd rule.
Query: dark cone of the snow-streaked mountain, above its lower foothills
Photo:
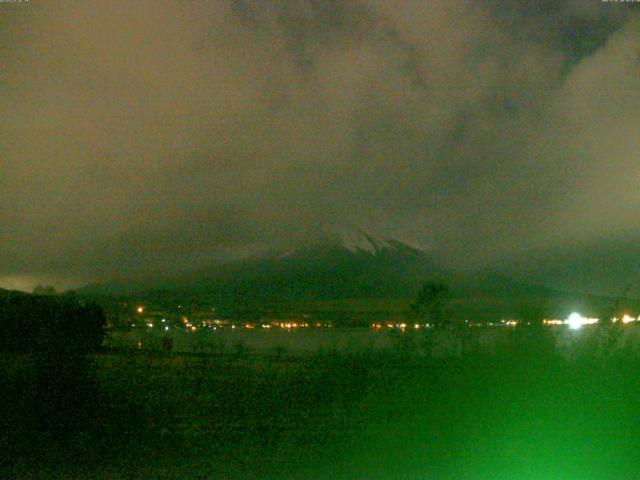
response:
[[[261,299],[335,300],[404,297],[416,282],[444,274],[424,251],[362,230],[323,232],[294,249],[142,281],[90,285],[79,293],[123,294],[142,290],[207,290]]]

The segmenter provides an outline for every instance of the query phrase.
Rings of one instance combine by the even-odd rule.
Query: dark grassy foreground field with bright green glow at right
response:
[[[527,331],[441,358],[415,354],[428,336],[300,357],[5,355],[0,478],[639,478],[640,355],[613,330],[576,335],[570,355]]]

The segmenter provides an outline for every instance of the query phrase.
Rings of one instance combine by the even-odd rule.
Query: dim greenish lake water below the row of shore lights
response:
[[[618,349],[640,353],[640,328],[622,329],[584,327],[547,327],[551,341],[563,355],[574,355],[588,348],[608,352]],[[105,343],[111,347],[131,350],[162,350],[167,342],[174,352],[188,353],[249,353],[305,355],[321,352],[364,352],[403,348],[418,355],[450,356],[467,351],[490,353],[500,348],[514,335],[526,335],[508,327],[468,328],[457,332],[433,330],[405,332],[370,328],[328,329],[203,329],[196,333],[171,329],[135,329],[112,332]]]

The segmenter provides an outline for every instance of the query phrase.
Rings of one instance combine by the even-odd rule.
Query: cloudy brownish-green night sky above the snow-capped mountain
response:
[[[325,224],[453,266],[640,239],[638,7],[0,3],[0,287]]]

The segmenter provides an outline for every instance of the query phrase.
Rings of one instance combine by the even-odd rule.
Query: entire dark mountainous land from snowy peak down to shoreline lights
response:
[[[573,310],[607,316],[621,305],[615,298],[552,289],[491,270],[451,271],[420,248],[362,229],[324,232],[294,249],[171,278],[110,282],[78,293],[135,297],[164,308],[215,305],[228,316],[316,312],[344,318],[348,312],[350,319],[363,319],[403,314],[425,281],[449,285],[451,314],[458,319],[540,320]]]

